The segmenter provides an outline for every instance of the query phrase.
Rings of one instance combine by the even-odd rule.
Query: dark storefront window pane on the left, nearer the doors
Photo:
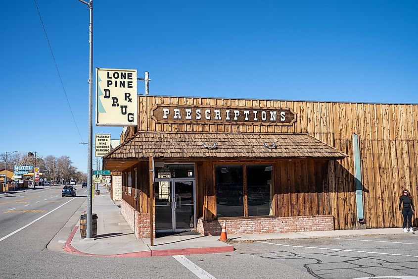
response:
[[[244,216],[241,165],[218,165],[216,172],[216,212],[218,217]]]

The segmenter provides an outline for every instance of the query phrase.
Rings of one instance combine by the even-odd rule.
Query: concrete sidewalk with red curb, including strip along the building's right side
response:
[[[67,252],[79,255],[101,257],[150,257],[224,253],[233,252],[234,248],[231,244],[236,241],[403,233],[401,228],[383,228],[244,235],[232,234],[229,235],[231,241],[225,243],[218,241],[219,236],[203,236],[191,232],[186,233],[187,235],[158,237],[154,239],[154,246],[150,246],[149,238],[137,239],[135,237],[134,232],[121,215],[120,208],[110,200],[108,192],[101,192],[100,195],[94,196],[93,199],[93,213],[97,214],[98,217],[97,236],[94,239],[82,239],[80,236],[78,226],[80,223],[80,213],[83,213],[84,210],[85,205],[67,223],[66,231],[71,229],[71,234],[69,237],[68,232],[66,234],[68,239],[65,241],[64,249]]]

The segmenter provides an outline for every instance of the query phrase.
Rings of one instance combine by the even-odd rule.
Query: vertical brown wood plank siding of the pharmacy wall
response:
[[[139,96],[138,102],[138,131],[308,133],[349,155],[344,160],[322,163],[277,162],[275,189],[279,216],[332,214],[336,229],[401,226],[398,202],[403,187],[410,189],[418,206],[417,105],[156,96]],[[151,109],[157,104],[291,108],[297,122],[292,126],[157,124],[150,117]],[[136,131],[128,129],[121,138],[129,138]],[[365,224],[356,220],[353,133],[360,136]],[[197,183],[205,191],[198,200],[204,199],[209,206],[199,210],[208,220],[214,218],[216,206],[214,190],[206,187],[214,184],[210,164],[202,162],[197,166],[199,173],[204,173]],[[146,197],[145,192],[143,195]]]

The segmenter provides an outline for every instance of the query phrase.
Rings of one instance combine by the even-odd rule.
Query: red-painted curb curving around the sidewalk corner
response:
[[[228,253],[233,252],[234,248],[232,245],[224,247],[206,247],[206,248],[186,248],[186,249],[170,249],[170,250],[149,250],[149,251],[139,251],[132,253],[124,254],[91,254],[82,252],[73,245],[71,241],[73,240],[74,235],[77,232],[79,226],[75,226],[71,231],[70,236],[64,244],[64,250],[78,255],[84,256],[94,256],[94,257],[158,257],[158,256],[175,256],[175,255],[192,255],[192,254],[212,254],[212,253]]]

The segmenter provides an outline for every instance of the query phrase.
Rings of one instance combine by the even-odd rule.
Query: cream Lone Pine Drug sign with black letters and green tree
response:
[[[137,126],[137,70],[96,68],[96,126]]]

